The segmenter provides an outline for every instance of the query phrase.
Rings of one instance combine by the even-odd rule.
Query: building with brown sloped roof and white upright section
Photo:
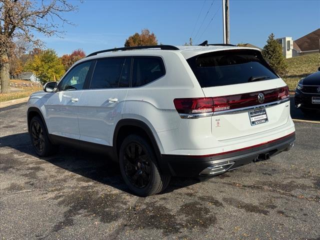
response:
[[[320,28],[292,41],[291,36],[277,38],[285,58],[320,52]]]

